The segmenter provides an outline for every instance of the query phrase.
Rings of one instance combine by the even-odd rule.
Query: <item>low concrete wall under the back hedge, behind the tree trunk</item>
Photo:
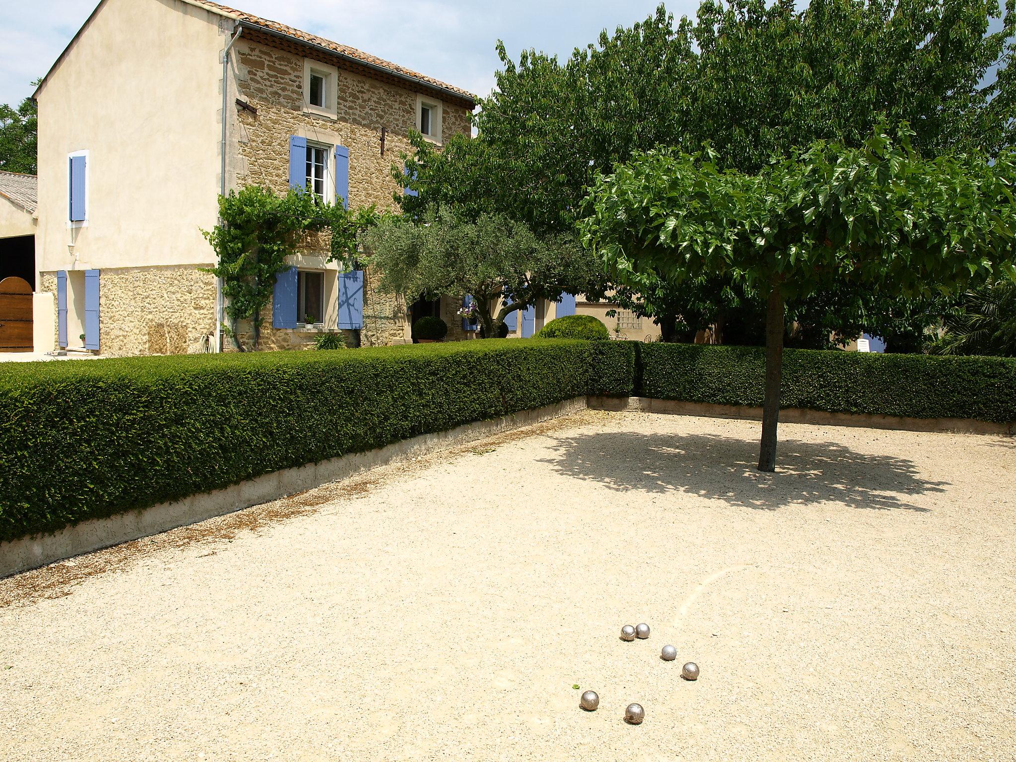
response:
[[[634,410],[639,412],[661,412],[676,416],[701,416],[702,418],[734,418],[746,421],[761,421],[761,407],[743,407],[734,404],[711,404],[709,402],[683,402],[677,399],[653,399],[651,397],[589,397],[589,407],[596,410]],[[872,416],[853,412],[826,412],[804,407],[782,407],[779,410],[781,424],[812,424],[813,426],[856,426],[866,429],[894,429],[897,431],[919,431],[949,434],[1013,434],[1013,422],[995,424],[989,421],[971,421],[962,418],[902,418],[894,416]]]

